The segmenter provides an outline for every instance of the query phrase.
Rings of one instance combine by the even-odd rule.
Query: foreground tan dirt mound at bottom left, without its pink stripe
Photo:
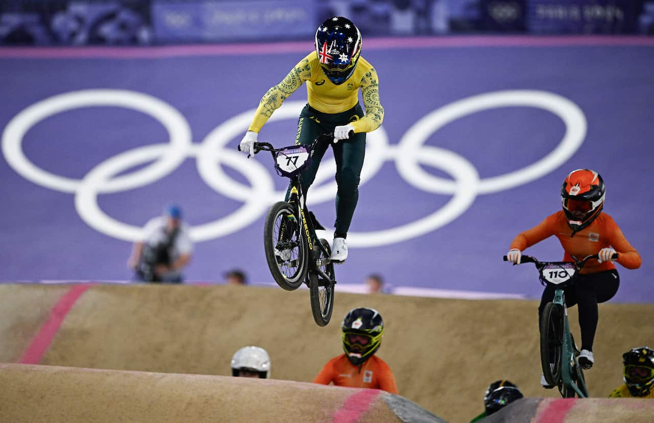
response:
[[[360,391],[278,380],[0,364],[0,421],[329,422]],[[382,396],[358,421],[400,423]]]

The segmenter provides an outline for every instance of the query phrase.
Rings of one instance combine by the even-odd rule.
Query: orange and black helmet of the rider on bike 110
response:
[[[591,169],[570,172],[561,186],[561,204],[572,236],[586,228],[604,208],[604,180]]]

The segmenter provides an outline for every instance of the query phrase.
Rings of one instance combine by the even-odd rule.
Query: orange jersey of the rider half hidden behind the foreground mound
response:
[[[336,386],[381,389],[391,394],[398,393],[390,367],[377,356],[370,357],[360,366],[352,364],[345,354],[332,358],[313,379],[313,383],[323,385],[328,385],[330,382],[334,382]]]

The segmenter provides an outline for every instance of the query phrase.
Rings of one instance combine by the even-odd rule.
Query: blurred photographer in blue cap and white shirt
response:
[[[169,205],[163,216],[145,225],[141,241],[134,243],[128,266],[135,271],[135,279],[143,282],[181,283],[181,270],[190,262],[192,251],[182,210],[178,205]]]

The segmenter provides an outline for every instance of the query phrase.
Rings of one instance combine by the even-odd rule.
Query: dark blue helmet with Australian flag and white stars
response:
[[[361,56],[361,33],[348,18],[329,18],[316,30],[316,53],[327,78],[336,85],[343,84]]]

